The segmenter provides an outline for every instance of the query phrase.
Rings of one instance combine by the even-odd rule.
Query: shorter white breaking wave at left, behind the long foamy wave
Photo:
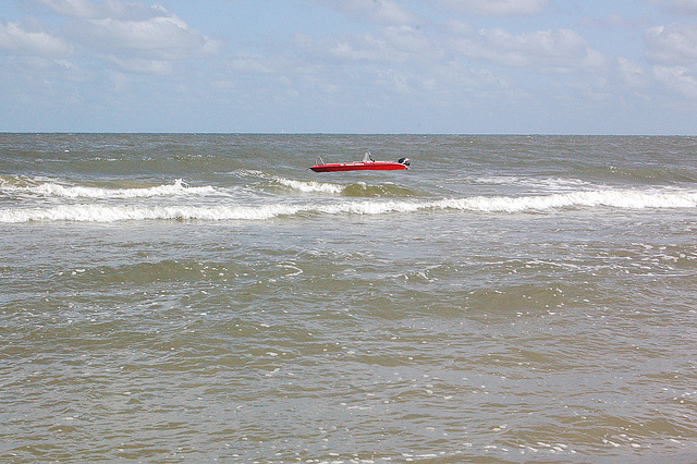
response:
[[[61,185],[54,182],[32,182],[29,185],[0,183],[0,193],[29,194],[56,198],[150,198],[158,196],[209,195],[216,193],[211,186],[193,187],[178,179],[173,184],[136,188],[103,188],[78,185]]]

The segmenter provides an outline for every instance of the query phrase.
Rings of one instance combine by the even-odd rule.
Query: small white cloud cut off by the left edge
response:
[[[48,33],[27,30],[17,23],[0,23],[0,53],[44,58],[64,58],[73,47]]]

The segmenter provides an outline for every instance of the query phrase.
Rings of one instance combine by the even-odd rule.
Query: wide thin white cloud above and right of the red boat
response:
[[[537,30],[512,35],[502,29],[482,29],[453,41],[454,50],[481,61],[506,66],[535,66],[570,71],[599,68],[604,57],[571,29]]]

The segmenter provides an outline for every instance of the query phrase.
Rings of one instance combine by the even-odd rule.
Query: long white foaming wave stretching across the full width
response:
[[[343,200],[330,204],[277,203],[260,206],[62,205],[0,209],[0,223],[30,221],[119,222],[142,220],[269,220],[307,215],[384,215],[454,210],[517,213],[578,208],[672,209],[697,207],[697,192],[595,191],[523,197],[468,197],[438,200]]]

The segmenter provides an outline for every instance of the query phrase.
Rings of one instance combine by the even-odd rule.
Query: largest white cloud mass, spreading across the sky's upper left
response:
[[[121,70],[166,74],[173,61],[217,54],[222,45],[189,27],[176,14],[155,4],[120,0],[35,0],[66,17],[59,32],[0,22],[0,53],[97,59]]]

